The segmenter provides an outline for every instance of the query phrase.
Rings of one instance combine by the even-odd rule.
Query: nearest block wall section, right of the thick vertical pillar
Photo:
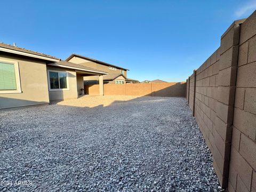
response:
[[[256,12],[241,25],[229,191],[256,191]]]

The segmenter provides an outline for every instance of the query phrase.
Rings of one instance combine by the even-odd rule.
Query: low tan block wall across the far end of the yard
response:
[[[86,85],[85,90],[91,95],[99,94],[99,85]],[[134,95],[155,97],[185,97],[186,83],[126,83],[104,84],[105,95]]]

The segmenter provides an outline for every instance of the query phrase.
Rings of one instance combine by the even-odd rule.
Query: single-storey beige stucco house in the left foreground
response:
[[[0,109],[77,98],[84,77],[97,76],[103,95],[106,71],[0,43]]]

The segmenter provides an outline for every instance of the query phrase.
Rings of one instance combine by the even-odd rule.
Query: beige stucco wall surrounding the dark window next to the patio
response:
[[[52,100],[64,100],[70,98],[77,98],[77,82],[76,82],[76,72],[75,70],[47,66],[47,70],[65,71],[68,73],[68,87],[69,90],[60,91],[49,91],[49,99]],[[49,86],[50,87],[50,86]]]

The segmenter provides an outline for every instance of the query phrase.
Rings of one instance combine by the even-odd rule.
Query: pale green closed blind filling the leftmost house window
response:
[[[16,90],[15,69],[13,63],[0,62],[0,90]]]

